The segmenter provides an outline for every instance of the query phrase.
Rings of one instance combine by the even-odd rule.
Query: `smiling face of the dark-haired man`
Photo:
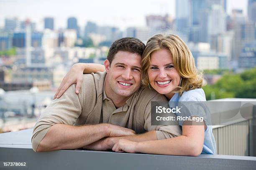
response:
[[[141,85],[141,55],[118,51],[107,71],[105,91],[108,97],[130,97]],[[109,96],[110,95],[110,96]]]

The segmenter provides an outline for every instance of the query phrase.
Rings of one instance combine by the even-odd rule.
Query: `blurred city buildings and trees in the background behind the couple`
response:
[[[19,18],[15,10],[26,13],[29,7],[23,3],[29,5],[27,1],[0,0],[0,133],[32,128],[74,63],[102,64],[112,42],[127,36],[146,43],[157,33],[177,34],[192,51],[197,69],[204,72],[207,100],[256,98],[256,0],[170,0],[172,9],[168,1],[152,1],[159,12],[147,9],[151,1],[145,1],[147,6],[139,8],[146,15],[139,15],[138,7],[133,10],[134,1],[123,13],[127,18],[135,13],[138,20],[130,17],[121,21],[120,13],[115,13],[117,5],[110,0],[105,8],[117,17],[107,20],[110,24],[98,20],[98,15],[104,18],[108,13],[84,1],[76,5],[89,5],[87,8],[97,16],[91,12],[82,25],[78,18],[83,16],[70,15],[65,18],[65,26],[58,27],[58,17],[41,13],[40,5],[34,9],[38,13]],[[54,2],[38,3],[46,3],[51,12]],[[232,8],[233,3],[238,7]],[[56,13],[61,8],[68,9],[68,13],[78,10],[61,2],[58,5],[54,6]],[[43,10],[47,13],[47,8]],[[35,21],[33,16],[41,19]],[[113,24],[115,20],[118,24]]]

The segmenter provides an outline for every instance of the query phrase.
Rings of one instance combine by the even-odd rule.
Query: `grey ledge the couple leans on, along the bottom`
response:
[[[31,134],[32,129],[0,134],[0,168],[3,168],[3,162],[26,162],[26,167],[15,169],[29,170],[254,170],[256,167],[256,157],[247,156],[200,155],[188,157],[89,150],[35,153],[31,147]]]

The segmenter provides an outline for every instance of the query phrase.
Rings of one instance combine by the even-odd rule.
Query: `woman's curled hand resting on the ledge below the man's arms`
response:
[[[115,152],[123,153],[136,153],[136,147],[138,143],[133,142],[131,140],[120,139],[117,143],[113,146],[112,150]]]

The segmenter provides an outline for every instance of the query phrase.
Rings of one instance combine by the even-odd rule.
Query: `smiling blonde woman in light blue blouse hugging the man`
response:
[[[77,82],[76,93],[79,93],[77,90],[79,90],[82,82],[83,70],[84,72],[95,71],[92,70],[95,66],[99,68],[99,71],[104,70],[104,66],[95,64],[75,65],[61,82],[56,92],[56,94],[59,93],[57,97],[60,97],[67,87],[74,82]],[[142,85],[165,95],[170,101],[170,107],[172,107],[173,102],[206,101],[205,93],[201,89],[202,75],[197,73],[190,50],[177,35],[159,34],[151,37],[143,52],[142,68]],[[70,78],[73,80],[69,80]],[[77,80],[74,81],[74,79]],[[196,112],[189,116],[200,117],[201,114]],[[207,122],[198,124],[198,121],[187,120],[179,121],[179,125],[182,126],[181,136],[145,142],[121,139],[114,145],[113,151],[190,156],[197,156],[201,153],[216,153],[212,127],[208,126]]]

